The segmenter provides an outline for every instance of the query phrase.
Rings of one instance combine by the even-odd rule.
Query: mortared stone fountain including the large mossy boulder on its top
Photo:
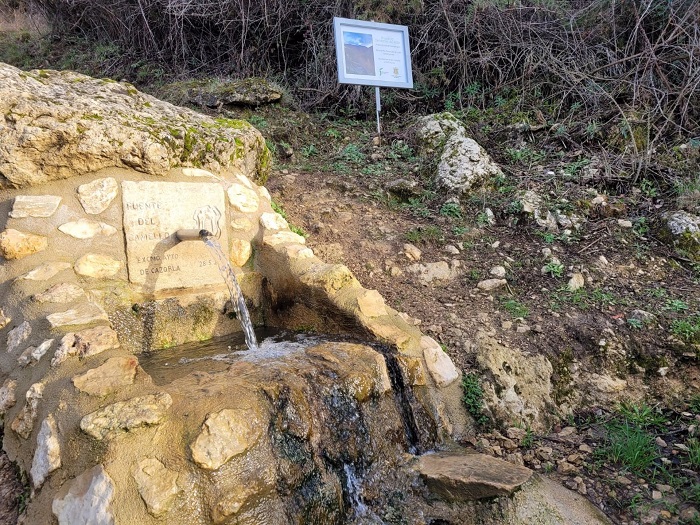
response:
[[[22,522],[575,523],[556,518],[573,495],[556,514],[527,469],[454,452],[473,435],[460,372],[272,210],[254,128],[75,73],[0,64],[0,86],[0,417]],[[334,338],[147,373],[146,355],[241,331],[211,253],[176,235],[202,229],[257,327]]]

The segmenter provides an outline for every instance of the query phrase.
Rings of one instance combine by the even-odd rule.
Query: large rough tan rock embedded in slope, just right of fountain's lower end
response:
[[[553,368],[546,357],[526,355],[480,332],[476,360],[484,401],[498,421],[529,425],[536,432],[548,427],[557,408],[551,397]]]

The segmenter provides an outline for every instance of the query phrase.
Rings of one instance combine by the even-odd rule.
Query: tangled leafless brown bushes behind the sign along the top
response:
[[[306,107],[357,107],[369,93],[336,82],[332,18],[342,16],[409,26],[416,89],[391,97],[404,108],[479,106],[504,93],[559,112],[576,105],[590,122],[621,122],[642,156],[700,120],[697,0],[36,3],[59,31],[190,75],[273,76]]]

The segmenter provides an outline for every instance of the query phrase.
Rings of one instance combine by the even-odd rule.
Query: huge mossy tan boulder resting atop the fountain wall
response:
[[[128,83],[69,71],[0,65],[0,115],[0,173],[15,187],[108,167],[162,175],[196,163],[264,176],[269,164],[262,136],[246,122],[215,120]]]

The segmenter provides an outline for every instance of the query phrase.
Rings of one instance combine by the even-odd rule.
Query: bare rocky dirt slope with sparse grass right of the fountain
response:
[[[263,115],[247,118],[277,147],[267,186],[319,256],[379,290],[470,377],[488,381],[480,337],[552,363],[548,426],[509,425],[484,406],[465,444],[554,477],[614,523],[700,522],[700,267],[660,230],[700,188],[601,185],[566,176],[576,161],[559,156],[504,163],[504,180],[456,199],[431,184],[434,166],[401,125],[380,143],[371,123],[296,121],[293,147],[293,126]],[[547,227],[527,213],[532,194],[579,224]]]

